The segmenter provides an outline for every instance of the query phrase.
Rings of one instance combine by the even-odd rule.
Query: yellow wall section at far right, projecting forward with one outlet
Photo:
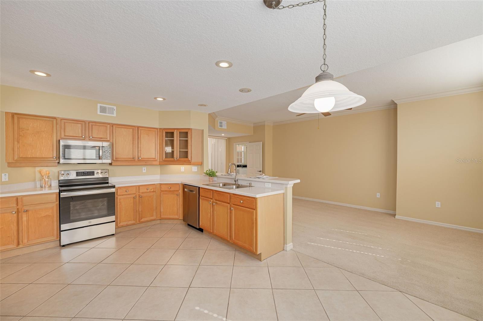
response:
[[[397,215],[483,228],[482,158],[483,92],[399,104]]]

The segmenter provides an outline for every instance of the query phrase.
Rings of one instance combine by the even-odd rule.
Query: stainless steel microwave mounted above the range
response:
[[[60,163],[110,163],[112,147],[110,142],[83,142],[59,140]]]

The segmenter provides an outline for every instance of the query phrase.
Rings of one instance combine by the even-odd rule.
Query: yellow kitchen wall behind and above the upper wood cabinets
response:
[[[116,117],[97,114],[97,104],[116,106]],[[0,184],[16,184],[32,182],[40,175],[34,167],[7,167],[5,162],[5,112],[19,112],[34,115],[66,117],[82,120],[106,121],[128,125],[169,128],[199,128],[204,130],[203,163],[208,162],[208,114],[196,111],[157,111],[141,107],[100,102],[85,98],[51,94],[24,88],[0,86],[0,170],[8,173],[9,180]],[[59,170],[71,169],[109,169],[110,176],[134,176],[157,174],[201,174],[203,165],[198,165],[198,172],[192,172],[191,165],[185,165],[181,172],[180,165],[129,165],[111,166],[100,164],[59,164],[47,168],[52,179],[57,179]],[[146,173],[142,173],[146,167]]]

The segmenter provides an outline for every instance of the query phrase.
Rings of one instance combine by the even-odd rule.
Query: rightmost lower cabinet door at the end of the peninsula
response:
[[[256,253],[256,211],[237,205],[230,211],[230,241]]]

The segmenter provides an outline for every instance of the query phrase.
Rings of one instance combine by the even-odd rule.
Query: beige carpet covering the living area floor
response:
[[[294,250],[483,320],[483,234],[293,200]]]

